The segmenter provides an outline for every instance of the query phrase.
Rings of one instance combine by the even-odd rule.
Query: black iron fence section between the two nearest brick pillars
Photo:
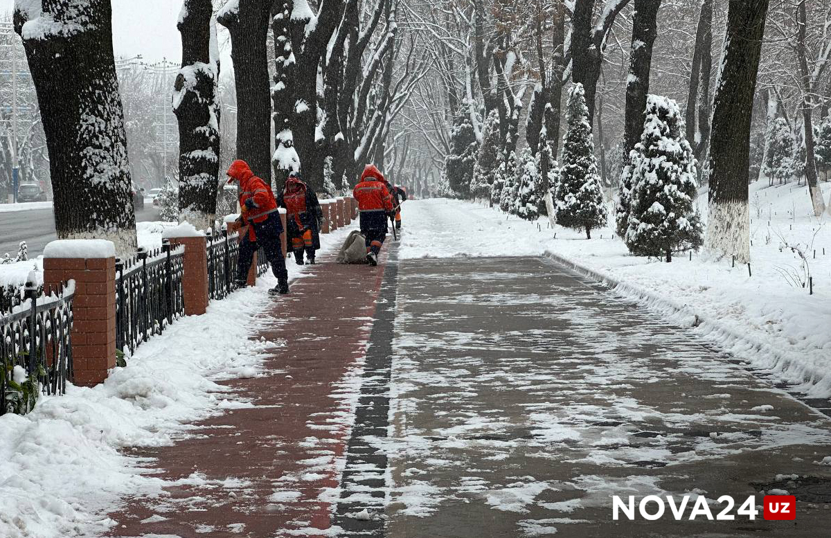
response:
[[[184,314],[184,247],[140,248],[116,260],[116,349],[130,353]]]

